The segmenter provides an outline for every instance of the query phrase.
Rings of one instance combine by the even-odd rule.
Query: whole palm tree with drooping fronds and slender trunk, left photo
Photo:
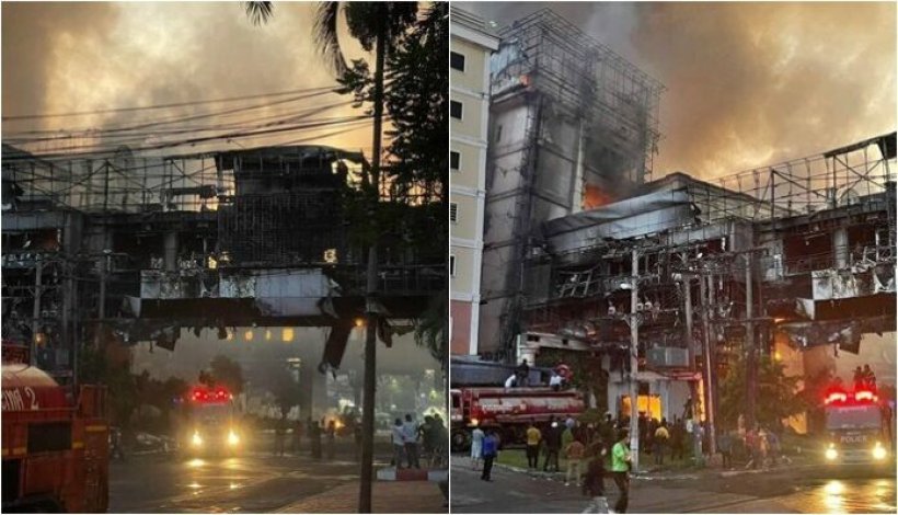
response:
[[[246,14],[253,23],[264,23],[273,14],[272,2],[245,2]],[[314,38],[319,53],[330,64],[333,73],[342,78],[348,71],[343,48],[339,45],[337,23],[343,13],[349,34],[358,39],[366,52],[375,52],[373,80],[373,145],[368,184],[370,187],[370,219],[375,219],[380,191],[381,137],[383,133],[383,62],[395,48],[400,37],[415,22],[417,2],[321,2],[315,14]],[[377,231],[373,231],[375,233]],[[375,237],[376,238],[376,237]],[[375,389],[377,359],[378,313],[373,306],[377,297],[378,260],[377,240],[368,248],[366,311],[368,327],[365,337],[365,381],[362,399],[361,485],[359,513],[371,512],[371,480],[375,435]]]

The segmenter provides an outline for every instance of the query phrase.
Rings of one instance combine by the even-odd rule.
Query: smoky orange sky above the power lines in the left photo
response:
[[[312,39],[315,3],[275,2],[274,18],[254,26],[238,2],[3,2],[2,113],[4,117],[70,113],[256,95],[336,83]],[[345,34],[345,25],[341,26]],[[349,37],[349,57],[366,57]],[[348,102],[319,96],[253,112],[278,113]],[[242,103],[238,105],[247,105]],[[173,113],[223,110],[205,105],[173,111],[4,122],[4,134],[28,128],[108,127]],[[361,114],[350,106],[315,116]],[[243,116],[240,119],[246,119]],[[229,121],[238,117],[229,118]],[[212,118],[216,121],[216,118]],[[204,124],[209,121],[204,121]],[[331,129],[333,130],[333,129]],[[245,147],[296,139],[295,134],[242,140]],[[327,140],[370,147],[370,126]],[[225,144],[222,144],[225,145]],[[226,148],[237,148],[233,144]]]

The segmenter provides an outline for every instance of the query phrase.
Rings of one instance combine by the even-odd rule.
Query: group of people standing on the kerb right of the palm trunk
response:
[[[393,444],[393,459],[391,465],[396,469],[421,468],[422,457],[428,461],[430,468],[442,467],[448,460],[449,433],[439,414],[425,415],[424,423],[418,424],[411,413],[405,420],[400,417],[393,422],[391,442]],[[422,456],[423,447],[423,456]]]

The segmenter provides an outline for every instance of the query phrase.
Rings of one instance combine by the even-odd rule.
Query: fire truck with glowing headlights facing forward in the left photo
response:
[[[244,448],[233,394],[222,386],[195,386],[182,404],[186,423],[181,445],[187,454],[233,455]]]

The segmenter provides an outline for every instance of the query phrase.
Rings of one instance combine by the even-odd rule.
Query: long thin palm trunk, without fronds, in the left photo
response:
[[[383,16],[378,20],[377,68],[375,68],[375,135],[371,157],[370,217],[375,220],[380,197],[380,145],[381,125],[383,122],[383,57],[385,35]],[[375,237],[376,238],[376,237]],[[375,309],[378,286],[377,240],[368,249],[368,281],[365,298],[365,310],[368,327],[365,333],[365,386],[361,411],[361,484],[358,494],[358,513],[371,513],[371,482],[373,480],[375,457],[375,391],[377,385],[377,321]]]

